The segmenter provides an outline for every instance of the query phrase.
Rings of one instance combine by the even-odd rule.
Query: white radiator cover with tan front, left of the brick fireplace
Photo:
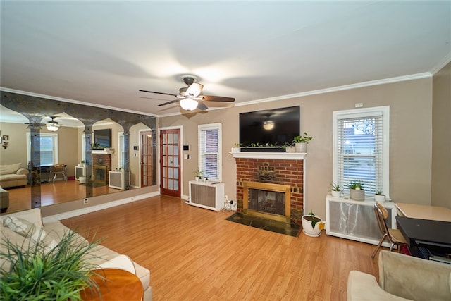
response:
[[[224,207],[224,183],[204,183],[190,181],[189,204],[205,209],[219,211]]]

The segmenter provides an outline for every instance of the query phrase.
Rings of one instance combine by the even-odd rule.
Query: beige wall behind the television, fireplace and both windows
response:
[[[183,126],[183,144],[191,159],[183,159],[183,195],[197,169],[197,125],[222,123],[223,182],[229,199],[236,199],[235,159],[228,154],[239,140],[238,114],[247,111],[301,106],[301,131],[313,140],[306,161],[305,206],[325,218],[325,197],[332,181],[332,112],[390,106],[390,196],[395,202],[431,204],[432,78],[316,94],[229,109],[159,118],[159,127]],[[421,139],[419,140],[419,137]]]

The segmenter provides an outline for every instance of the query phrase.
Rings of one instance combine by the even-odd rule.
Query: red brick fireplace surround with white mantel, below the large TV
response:
[[[288,214],[287,219],[295,213],[302,213],[304,207],[304,153],[233,152],[232,154],[237,164],[237,211],[247,211],[244,198],[249,195],[247,191],[249,188],[245,188],[248,183],[261,183],[262,187],[264,187],[264,183],[270,183],[289,187],[288,213],[285,210],[285,215]],[[257,186],[261,187],[261,185]],[[285,207],[285,204],[283,206]]]

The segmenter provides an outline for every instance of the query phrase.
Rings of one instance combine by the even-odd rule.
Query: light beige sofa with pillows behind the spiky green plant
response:
[[[56,243],[61,240],[61,237],[63,237],[64,233],[71,231],[59,221],[46,223],[44,225],[42,223],[41,210],[37,208],[30,209],[11,214],[2,214],[0,216],[0,238],[2,243],[6,238],[8,238],[8,240],[10,240],[11,242],[15,242],[17,245],[21,245],[23,242],[26,242],[24,245],[27,245],[27,243],[30,241],[30,238],[25,238],[22,234],[19,234],[19,231],[15,232],[12,230],[13,227],[11,226],[11,219],[8,219],[8,216],[16,217],[19,219],[19,221],[27,221],[28,223],[35,225],[35,227],[37,228],[42,228],[45,235],[44,243],[47,247],[54,247],[54,245],[56,245]],[[76,235],[78,239],[85,240],[85,238],[82,238],[82,236],[78,234]],[[140,266],[140,264],[137,264],[136,262],[133,262],[129,257],[123,254],[118,254],[117,252],[114,252],[113,250],[110,250],[102,245],[97,245],[95,247],[95,250],[96,252],[94,252],[93,256],[86,259],[87,262],[96,264],[100,268],[117,268],[132,272],[138,278],[140,278],[140,281],[142,283],[142,288],[144,289],[143,300],[152,301],[152,287],[149,285],[150,271],[148,269]],[[0,266],[2,269],[8,270],[8,264],[8,262],[0,257]]]

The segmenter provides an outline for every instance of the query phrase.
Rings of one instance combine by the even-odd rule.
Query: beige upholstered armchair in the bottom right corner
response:
[[[379,253],[376,277],[350,271],[348,301],[451,300],[451,264],[433,262],[400,253]]]

